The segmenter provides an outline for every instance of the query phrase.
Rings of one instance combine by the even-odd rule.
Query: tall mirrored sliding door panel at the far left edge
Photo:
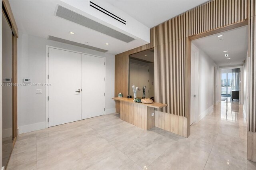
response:
[[[5,79],[5,80],[4,80]],[[2,166],[12,152],[12,30],[2,13]]]

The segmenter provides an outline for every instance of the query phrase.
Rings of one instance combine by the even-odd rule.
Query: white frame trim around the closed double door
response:
[[[84,55],[90,55],[90,56],[94,56],[94,57],[100,57],[100,58],[104,58],[104,62],[105,62],[105,94],[106,94],[106,57],[102,57],[102,56],[98,56],[98,55],[92,55],[92,54],[89,54],[89,53],[83,53],[83,52],[80,52],[80,51],[74,51],[74,50],[70,50],[70,49],[64,49],[64,48],[60,48],[60,47],[54,47],[54,46],[51,46],[51,45],[46,45],[46,84],[48,84],[48,74],[49,74],[49,57],[48,57],[48,52],[49,52],[49,48],[54,48],[54,49],[60,49],[60,50],[64,50],[64,51],[70,51],[70,52],[74,52],[74,53],[79,53],[79,54],[84,54]],[[49,91],[48,91],[48,86],[46,86],[46,96],[45,96],[45,99],[46,99],[46,118],[45,118],[45,128],[48,128],[49,127],[49,124],[48,124],[48,117],[49,117],[49,112],[48,112],[48,96],[49,96]],[[104,97],[104,100],[105,100],[105,111],[104,111],[104,115],[106,115],[106,95]],[[111,109],[108,109],[111,111]],[[112,113],[115,113],[116,112],[116,109],[114,112]],[[109,114],[109,113],[108,113]]]

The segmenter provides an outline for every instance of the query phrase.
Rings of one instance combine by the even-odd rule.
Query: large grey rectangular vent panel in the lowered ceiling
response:
[[[94,20],[91,20],[89,18],[86,18],[85,16],[82,16],[82,15],[80,15],[76,12],[73,12],[67,8],[64,8],[63,6],[60,6],[60,5],[58,5],[56,16],[58,16],[60,18],[64,18],[68,21],[74,22],[76,24],[80,24],[81,26],[85,26],[85,27],[95,30],[97,32],[101,32],[103,34],[106,34],[110,37],[121,40],[123,42],[128,43],[128,42],[131,42],[132,40],[135,40],[134,38],[132,38],[130,36],[126,36],[125,34],[123,34],[121,32],[113,30],[112,28],[104,26],[103,24],[100,24],[100,23],[98,23]]]

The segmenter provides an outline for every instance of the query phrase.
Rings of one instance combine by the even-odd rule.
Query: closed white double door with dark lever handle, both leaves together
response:
[[[105,59],[48,48],[48,127],[104,115]]]

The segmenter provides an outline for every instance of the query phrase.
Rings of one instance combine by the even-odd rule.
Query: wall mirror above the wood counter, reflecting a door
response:
[[[132,86],[138,87],[138,99],[154,100],[154,48],[129,55],[129,97],[134,98]],[[143,93],[144,91],[144,93]]]

